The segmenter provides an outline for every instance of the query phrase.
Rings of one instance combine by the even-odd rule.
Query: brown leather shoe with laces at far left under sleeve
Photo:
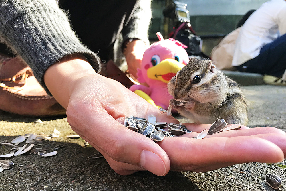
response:
[[[0,109],[31,116],[65,115],[66,112],[47,94],[21,58],[3,55],[0,55]]]

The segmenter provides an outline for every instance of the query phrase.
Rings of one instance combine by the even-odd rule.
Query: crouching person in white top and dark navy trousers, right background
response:
[[[281,78],[286,70],[286,1],[263,3],[243,24],[232,66],[241,72]],[[286,80],[286,75],[283,76]]]

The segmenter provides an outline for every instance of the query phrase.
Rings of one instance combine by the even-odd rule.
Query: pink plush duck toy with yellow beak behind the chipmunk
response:
[[[138,81],[144,85],[132,85],[129,89],[155,107],[168,109],[173,97],[168,93],[167,83],[188,64],[187,46],[181,42],[163,39],[157,32],[158,42],[150,45],[143,54],[141,68],[137,69]]]

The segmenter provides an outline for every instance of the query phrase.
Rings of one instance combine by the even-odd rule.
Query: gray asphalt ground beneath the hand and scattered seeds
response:
[[[286,131],[286,86],[242,86],[249,108],[249,127],[273,126]],[[97,151],[84,146],[82,139],[69,139],[74,132],[65,116],[41,118],[23,117],[0,111],[0,141],[11,140],[26,133],[50,134],[61,132],[57,138],[44,141],[39,147],[64,147],[53,157],[35,154],[11,157],[14,166],[0,173],[1,190],[273,190],[265,181],[268,173],[281,177],[286,190],[286,161],[276,164],[257,162],[237,164],[203,173],[169,172],[158,177],[150,172],[130,176],[116,174],[104,158],[89,159]],[[181,119],[185,121],[185,119]],[[0,154],[11,147],[0,146]],[[196,153],[194,153],[195,155]]]

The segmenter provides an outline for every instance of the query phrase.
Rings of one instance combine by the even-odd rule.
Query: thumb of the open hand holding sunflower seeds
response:
[[[169,172],[169,157],[157,143],[140,133],[127,129],[110,115],[96,116],[96,118],[101,120],[100,123],[89,124],[90,127],[96,128],[88,128],[89,133],[84,133],[83,138],[104,152],[102,155],[107,155],[116,162],[142,167],[158,176],[165,176]],[[118,166],[114,166],[118,164],[116,162],[112,163],[108,160],[113,169],[120,171]]]

